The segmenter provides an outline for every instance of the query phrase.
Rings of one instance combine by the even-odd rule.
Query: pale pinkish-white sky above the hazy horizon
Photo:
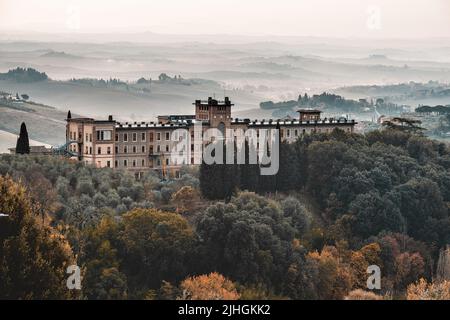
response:
[[[0,0],[0,33],[450,37],[449,0]]]

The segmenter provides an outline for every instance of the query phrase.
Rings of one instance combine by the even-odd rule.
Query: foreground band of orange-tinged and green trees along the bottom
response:
[[[104,215],[96,224],[76,228],[77,232],[70,231],[73,226],[53,229],[39,222],[26,189],[11,178],[0,176],[0,198],[0,209],[8,214],[0,225],[5,248],[0,251],[2,298],[390,299],[433,294],[430,297],[436,299],[448,295],[445,282],[414,284],[419,278],[431,278],[432,258],[424,242],[386,232],[350,246],[314,225],[310,211],[294,197],[242,192],[228,203],[212,203],[200,210],[191,223],[176,213],[135,208],[120,218]],[[13,252],[16,243],[21,245]],[[26,261],[33,262],[31,268],[25,267]],[[81,292],[65,287],[65,267],[73,263],[82,270]],[[382,290],[375,293],[364,290],[367,267],[373,264],[383,270]],[[8,267],[12,265],[21,268],[20,275]],[[42,272],[34,276],[40,268]]]

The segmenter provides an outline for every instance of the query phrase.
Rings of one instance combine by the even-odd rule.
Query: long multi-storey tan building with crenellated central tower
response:
[[[233,104],[228,97],[224,101],[208,98],[196,100],[194,115],[159,116],[156,122],[120,123],[113,119],[95,120],[91,118],[67,117],[66,140],[73,142],[69,151],[78,154],[78,159],[97,167],[127,169],[139,178],[145,171],[158,170],[163,176],[177,177],[183,163],[176,163],[171,150],[178,141],[178,132],[185,129],[191,138],[199,134],[195,124],[202,124],[202,132],[216,128],[226,129],[270,129],[279,128],[283,141],[294,142],[304,134],[312,132],[331,132],[340,128],[353,132],[356,122],[346,118],[321,118],[321,111],[299,110],[298,119],[253,120],[231,118]],[[202,137],[196,137],[202,139]],[[193,140],[193,139],[192,139]],[[202,145],[192,143],[186,152],[184,163],[198,163],[196,157]]]

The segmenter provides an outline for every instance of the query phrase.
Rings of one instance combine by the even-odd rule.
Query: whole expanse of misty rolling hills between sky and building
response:
[[[112,114],[123,121],[149,121],[159,114],[192,113],[195,99],[224,95],[235,103],[234,117],[258,119],[278,115],[262,110],[259,104],[263,101],[296,100],[299,94],[324,91],[355,100],[390,97],[389,101],[413,107],[450,104],[445,94],[408,96],[395,90],[370,89],[411,81],[450,83],[449,39],[382,41],[145,32],[2,34],[0,39],[0,72],[31,67],[49,77],[35,82],[6,78],[0,80],[0,91],[26,93],[33,101],[55,107],[52,118],[58,121],[64,120],[69,109],[96,118]],[[161,81],[162,74],[169,80]],[[145,81],[137,83],[140,78]],[[111,79],[119,83],[106,84]],[[28,116],[43,128],[43,118]],[[2,129],[14,132],[17,121],[11,127],[4,125],[9,117],[2,112]],[[52,144],[61,141],[42,132],[38,138]]]

